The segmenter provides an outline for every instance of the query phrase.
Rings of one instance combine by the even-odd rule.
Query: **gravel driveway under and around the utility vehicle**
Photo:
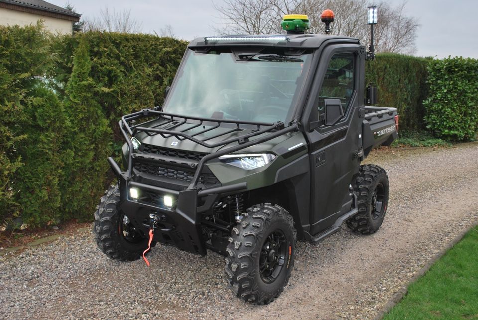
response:
[[[318,245],[299,242],[289,284],[268,306],[235,298],[215,253],[158,245],[148,268],[108,259],[82,232],[0,257],[1,318],[373,318],[478,220],[478,144],[379,150],[367,160],[390,177],[382,228],[359,236],[343,226]]]

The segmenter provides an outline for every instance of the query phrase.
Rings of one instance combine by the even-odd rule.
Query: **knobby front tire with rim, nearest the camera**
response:
[[[269,203],[242,213],[226,251],[226,275],[234,294],[249,303],[268,304],[289,281],[296,231],[292,216]]]

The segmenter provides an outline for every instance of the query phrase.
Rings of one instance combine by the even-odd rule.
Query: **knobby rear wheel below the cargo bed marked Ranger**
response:
[[[389,184],[385,170],[373,164],[361,166],[354,193],[359,213],[346,221],[347,226],[361,234],[375,233],[387,213]]]

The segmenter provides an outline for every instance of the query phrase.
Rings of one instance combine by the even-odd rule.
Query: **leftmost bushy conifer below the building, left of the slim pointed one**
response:
[[[52,66],[41,25],[0,27],[0,221],[57,219],[63,106],[34,76]]]

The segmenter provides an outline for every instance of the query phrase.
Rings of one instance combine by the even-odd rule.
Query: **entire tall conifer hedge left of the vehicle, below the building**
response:
[[[120,116],[162,104],[185,49],[152,35],[0,27],[0,224],[91,219]]]

